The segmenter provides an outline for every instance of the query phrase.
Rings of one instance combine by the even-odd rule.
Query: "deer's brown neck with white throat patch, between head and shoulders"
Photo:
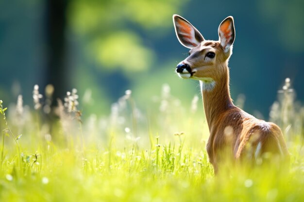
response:
[[[222,73],[219,78],[214,78],[213,81],[200,81],[209,129],[221,113],[234,107],[229,91],[229,69],[227,64],[223,65],[223,68],[220,68]]]

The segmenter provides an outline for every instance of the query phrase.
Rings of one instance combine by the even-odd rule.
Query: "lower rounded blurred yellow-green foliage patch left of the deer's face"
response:
[[[103,68],[121,68],[124,72],[147,70],[154,58],[151,49],[144,47],[140,37],[130,31],[101,36],[91,43],[88,53]]]

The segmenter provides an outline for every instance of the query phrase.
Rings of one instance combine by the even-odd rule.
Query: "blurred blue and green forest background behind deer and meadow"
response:
[[[199,83],[174,73],[188,50],[173,14],[212,40],[234,16],[231,94],[248,112],[267,119],[287,77],[304,100],[303,0],[0,0],[0,98],[32,105],[34,85],[51,83],[54,98],[77,88],[84,115],[108,114],[125,90],[145,108],[167,83],[189,105]]]

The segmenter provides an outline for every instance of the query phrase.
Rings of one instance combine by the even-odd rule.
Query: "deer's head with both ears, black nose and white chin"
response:
[[[205,40],[203,35],[185,18],[173,15],[173,23],[179,42],[190,49],[189,56],[176,67],[180,78],[193,78],[204,83],[211,90],[217,81],[227,76],[227,62],[232,54],[235,40],[232,16],[224,19],[219,26],[219,40]]]

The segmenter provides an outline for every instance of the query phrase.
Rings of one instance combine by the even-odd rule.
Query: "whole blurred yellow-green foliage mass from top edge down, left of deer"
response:
[[[101,69],[143,71],[155,60],[141,31],[161,32],[186,0],[73,0],[68,8],[72,30],[86,42],[87,56]],[[132,29],[136,25],[136,29]],[[158,35],[157,34],[157,35]]]

